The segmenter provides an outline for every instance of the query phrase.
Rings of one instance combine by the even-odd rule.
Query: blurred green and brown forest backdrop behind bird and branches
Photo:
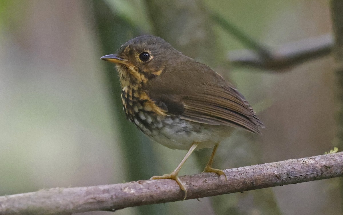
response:
[[[99,60],[142,34],[161,36],[221,73],[266,126],[262,136],[237,131],[224,141],[214,168],[319,155],[336,146],[332,54],[281,72],[232,66],[228,53],[247,47],[212,12],[272,48],[332,31],[328,0],[0,1],[0,195],[144,180],[175,169],[186,152],[151,142],[126,121],[115,66]],[[210,153],[193,153],[180,175],[202,172]],[[341,180],[115,213],[338,215]]]

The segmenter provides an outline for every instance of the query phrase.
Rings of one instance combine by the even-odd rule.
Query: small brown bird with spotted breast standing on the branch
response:
[[[151,179],[174,179],[196,148],[212,148],[204,172],[225,176],[212,168],[218,144],[235,128],[260,134],[264,127],[249,103],[209,66],[174,49],[160,37],[129,40],[117,54],[102,60],[116,63],[121,101],[127,118],[151,139],[171,149],[188,150],[171,174]]]

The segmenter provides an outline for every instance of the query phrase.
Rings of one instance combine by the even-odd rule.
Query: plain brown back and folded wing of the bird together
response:
[[[166,67],[160,76],[149,81],[146,91],[156,104],[167,107],[167,113],[189,121],[241,127],[257,134],[263,127],[242,94],[196,61]]]

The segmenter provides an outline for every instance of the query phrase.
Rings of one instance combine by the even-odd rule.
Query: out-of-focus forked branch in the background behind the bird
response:
[[[209,13],[214,22],[250,48],[250,50],[228,53],[228,60],[234,65],[281,72],[306,61],[328,55],[332,51],[333,39],[331,34],[286,43],[276,50],[271,50],[249,37],[219,14],[211,11]]]

